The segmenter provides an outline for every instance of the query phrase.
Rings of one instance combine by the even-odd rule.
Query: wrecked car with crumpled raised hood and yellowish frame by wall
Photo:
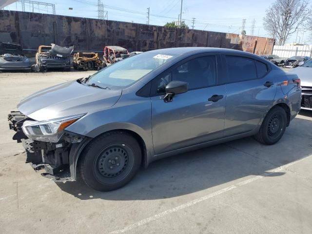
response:
[[[36,53],[36,66],[33,70],[40,72],[47,71],[50,68],[61,68],[70,71],[70,55],[74,46],[61,47],[56,44],[40,45]]]

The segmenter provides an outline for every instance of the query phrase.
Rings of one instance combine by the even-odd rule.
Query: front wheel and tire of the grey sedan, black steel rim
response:
[[[111,191],[126,185],[141,165],[141,148],[126,132],[110,132],[93,139],[79,159],[83,181],[98,191]]]

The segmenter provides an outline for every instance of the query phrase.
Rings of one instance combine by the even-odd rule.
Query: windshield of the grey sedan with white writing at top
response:
[[[175,57],[177,57],[175,54],[159,54],[159,52],[142,53],[102,69],[88,78],[86,84],[96,84],[110,89],[125,88]]]

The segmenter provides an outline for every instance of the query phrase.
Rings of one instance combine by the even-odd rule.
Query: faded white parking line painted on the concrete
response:
[[[140,220],[140,221],[138,221],[138,222],[136,222],[136,223],[133,223],[133,224],[131,224],[131,225],[129,225],[129,226],[126,226],[126,227],[124,227],[124,228],[122,228],[122,229],[113,231],[113,232],[111,232],[111,233],[109,233],[109,234],[120,234],[120,233],[125,233],[125,232],[130,231],[130,230],[132,230],[132,229],[134,229],[134,228],[137,228],[137,227],[142,226],[142,225],[144,225],[144,224],[150,223],[150,222],[152,222],[152,221],[154,221],[154,220],[156,220],[156,219],[159,219],[159,218],[162,218],[162,217],[164,217],[164,216],[166,216],[166,215],[169,215],[169,214],[171,214],[171,213],[174,213],[174,212],[176,212],[176,211],[178,211],[178,210],[181,210],[181,209],[184,209],[184,208],[193,206],[193,205],[195,205],[195,204],[197,204],[197,203],[199,203],[199,202],[205,201],[205,200],[207,200],[207,199],[209,199],[209,198],[212,198],[212,197],[214,197],[214,196],[216,196],[216,195],[220,195],[220,194],[223,194],[223,193],[228,192],[228,191],[230,191],[230,190],[233,190],[233,189],[235,189],[235,188],[239,188],[239,187],[241,187],[241,186],[243,186],[243,185],[246,185],[246,184],[249,184],[249,183],[251,183],[251,182],[254,182],[255,180],[261,179],[261,178],[266,177],[266,176],[270,176],[270,175],[272,175],[273,173],[283,171],[283,170],[285,170],[287,167],[290,167],[290,166],[292,166],[293,164],[296,164],[296,163],[298,163],[298,162],[301,162],[301,161],[307,159],[308,157],[311,157],[311,155],[310,155],[310,156],[307,156],[307,157],[304,157],[304,158],[301,158],[301,159],[299,159],[299,160],[290,162],[290,163],[285,164],[285,165],[283,165],[283,166],[277,167],[277,168],[275,168],[275,169],[269,170],[269,171],[263,173],[263,174],[260,175],[260,176],[254,176],[254,177],[252,177],[252,178],[250,178],[250,179],[246,179],[246,180],[244,180],[244,181],[241,181],[241,182],[239,182],[239,183],[236,183],[236,184],[234,184],[234,185],[231,185],[231,186],[229,186],[229,187],[227,187],[227,188],[224,188],[224,189],[218,190],[218,191],[216,191],[216,192],[214,192],[214,193],[211,193],[211,194],[202,196],[202,197],[200,197],[200,198],[194,199],[194,200],[192,200],[192,201],[189,201],[189,202],[184,203],[184,204],[182,204],[182,205],[179,205],[179,206],[177,206],[177,207],[171,208],[171,209],[169,209],[169,210],[167,210],[167,211],[163,211],[163,212],[161,212],[161,213],[159,213],[159,214],[157,214],[157,215],[153,215],[153,216],[151,216],[151,217],[142,219],[142,220]]]

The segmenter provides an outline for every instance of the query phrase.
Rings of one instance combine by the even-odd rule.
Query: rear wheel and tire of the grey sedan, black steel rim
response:
[[[264,118],[259,132],[254,138],[262,144],[273,145],[284,135],[287,115],[280,106],[273,107]]]

